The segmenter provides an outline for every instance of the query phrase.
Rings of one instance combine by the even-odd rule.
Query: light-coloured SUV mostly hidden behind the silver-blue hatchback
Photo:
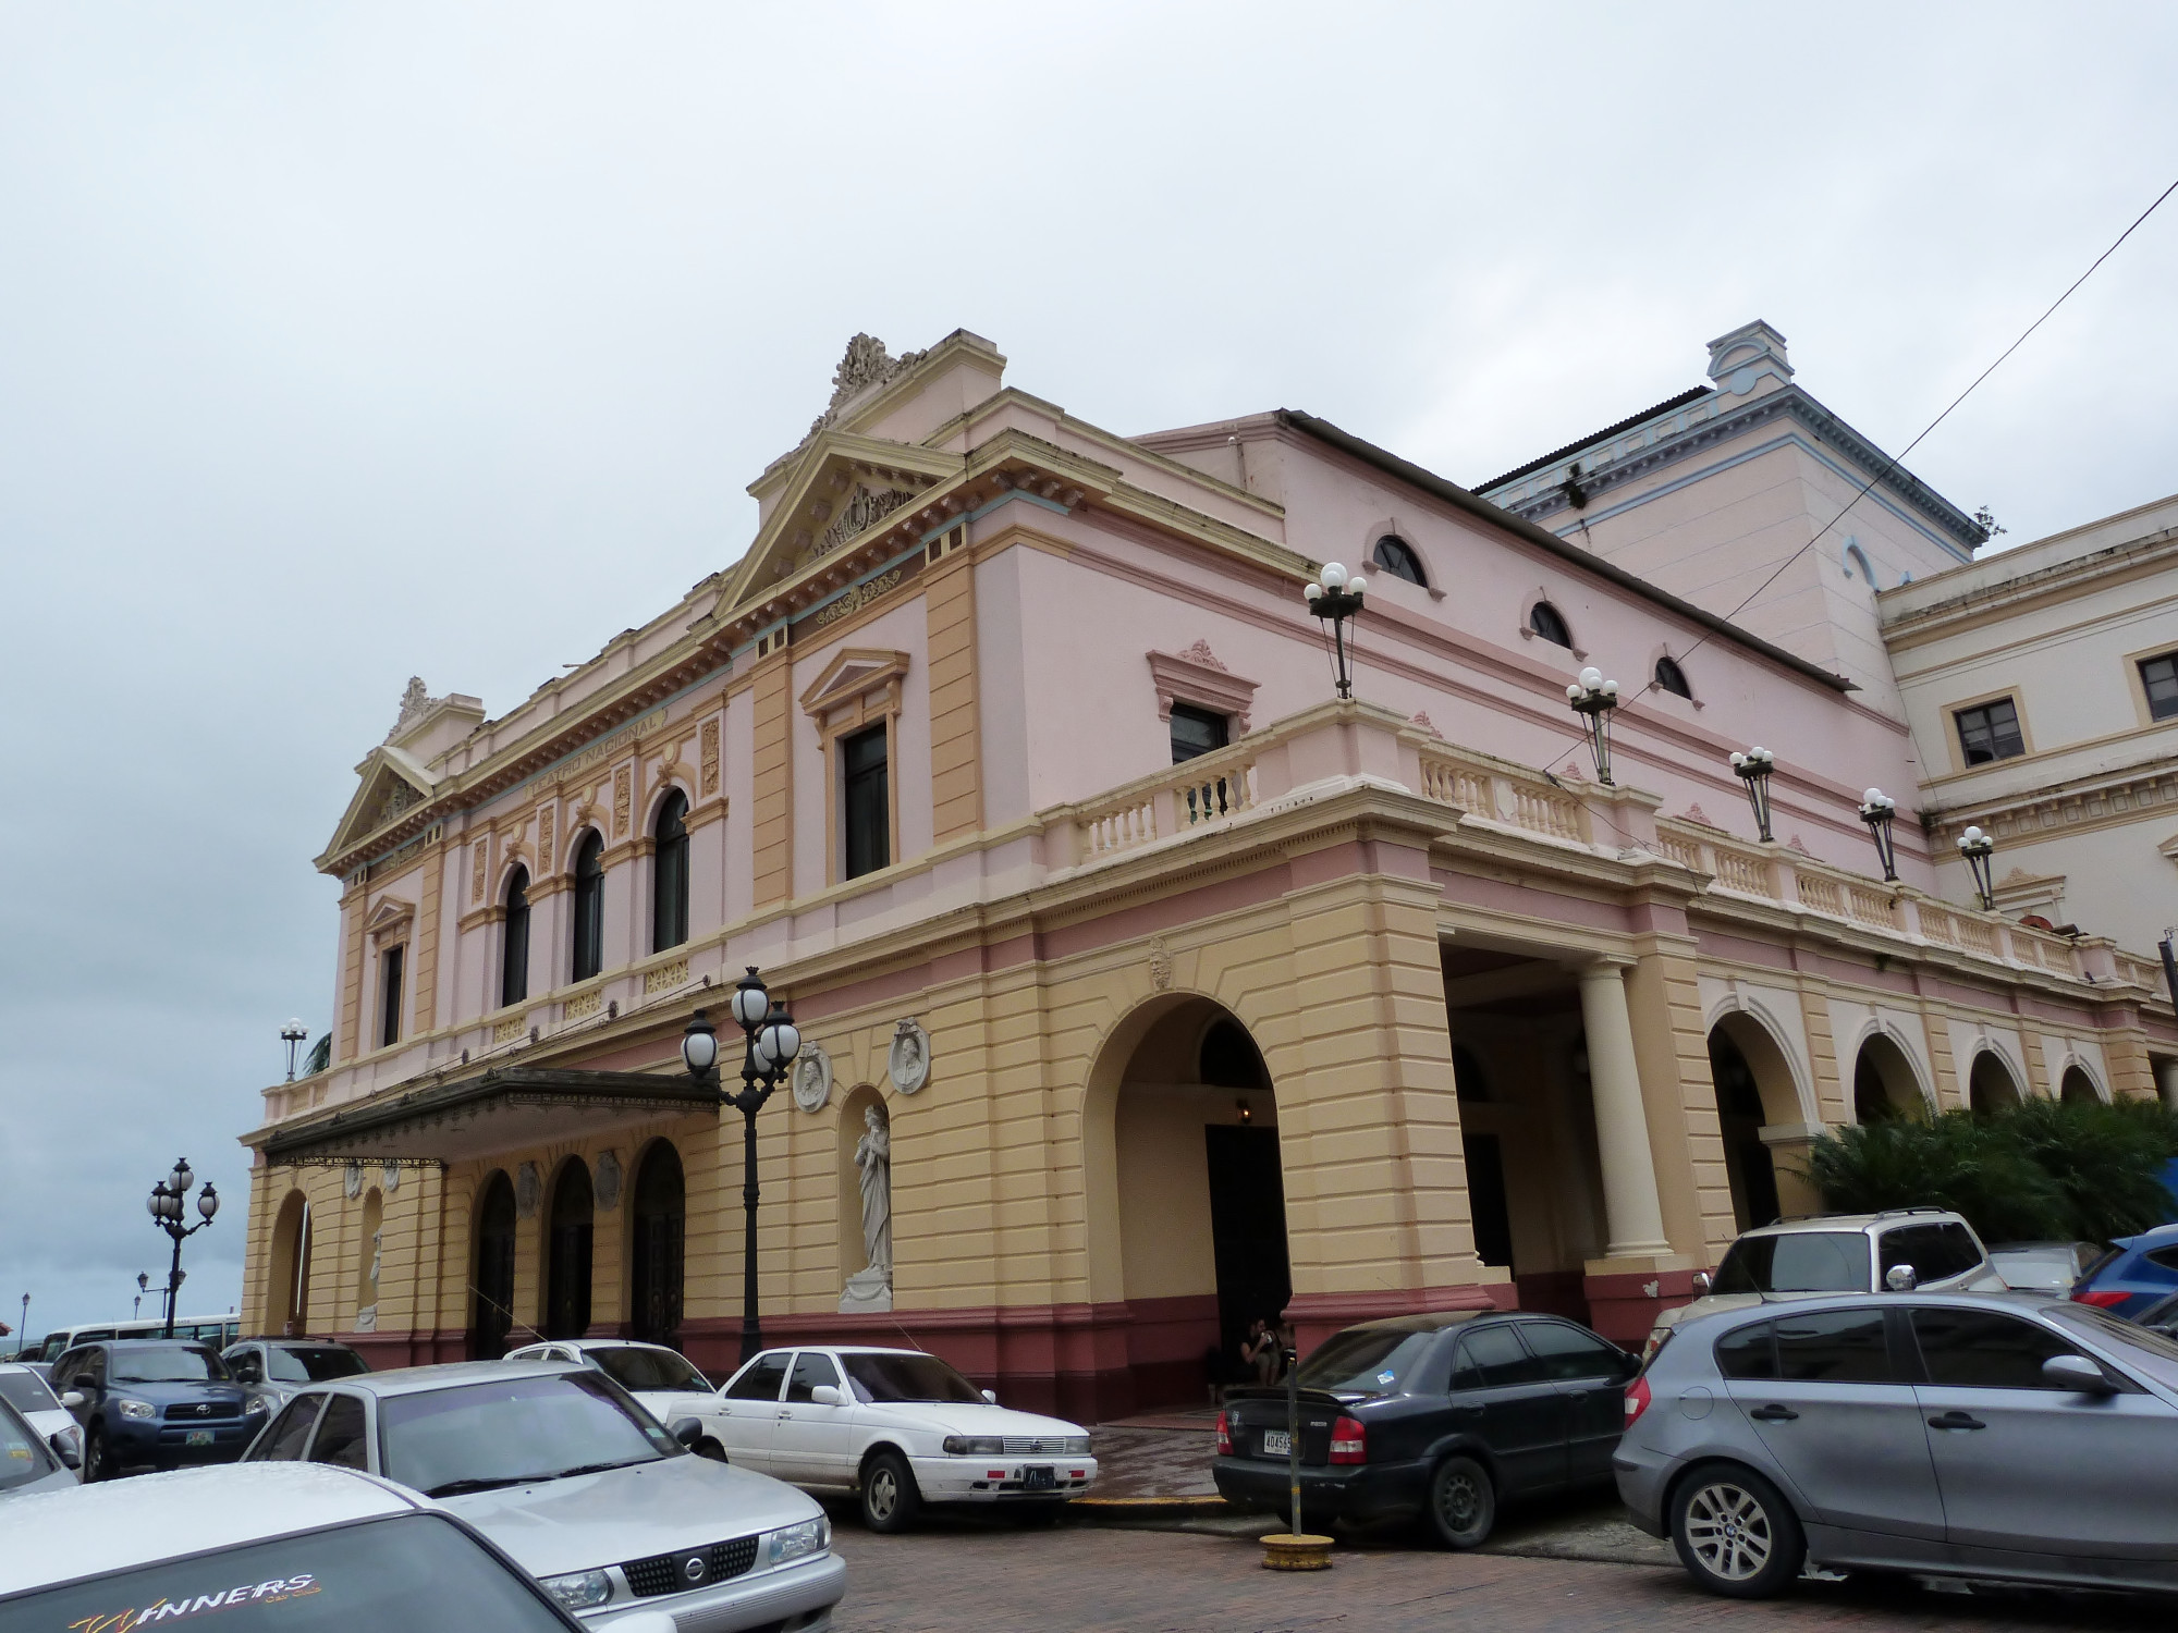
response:
[[[2002,1293],[2004,1278],[1973,1226],[1949,1208],[1825,1213],[1749,1230],[1716,1267],[1694,1276],[1699,1298],[1655,1317],[1642,1359],[1673,1326],[1697,1315],[1745,1311],[1823,1293]]]

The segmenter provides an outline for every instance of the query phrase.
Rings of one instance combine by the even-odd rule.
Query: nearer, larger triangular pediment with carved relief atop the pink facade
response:
[[[717,614],[730,616],[815,570],[869,529],[897,523],[902,509],[956,477],[965,464],[963,455],[941,449],[819,431],[786,472],[756,542],[719,597]]]

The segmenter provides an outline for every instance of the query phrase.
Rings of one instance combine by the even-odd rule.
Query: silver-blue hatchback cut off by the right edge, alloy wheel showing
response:
[[[1614,1465],[1634,1524],[1736,1598],[1810,1559],[2178,1587],[2178,1341],[2006,1293],[1725,1311],[1627,1391]]]

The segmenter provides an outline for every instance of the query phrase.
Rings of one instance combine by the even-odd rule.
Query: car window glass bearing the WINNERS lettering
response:
[[[157,1542],[144,1546],[152,1550]],[[403,1513],[48,1587],[0,1605],[0,1629],[142,1626],[159,1607],[176,1618],[209,1616],[220,1633],[362,1626],[560,1633],[566,1626],[457,1524],[436,1513]]]

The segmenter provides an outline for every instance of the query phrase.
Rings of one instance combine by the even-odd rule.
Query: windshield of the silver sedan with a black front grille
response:
[[[555,1481],[682,1448],[595,1372],[490,1378],[379,1400],[386,1476],[425,1496]]]

